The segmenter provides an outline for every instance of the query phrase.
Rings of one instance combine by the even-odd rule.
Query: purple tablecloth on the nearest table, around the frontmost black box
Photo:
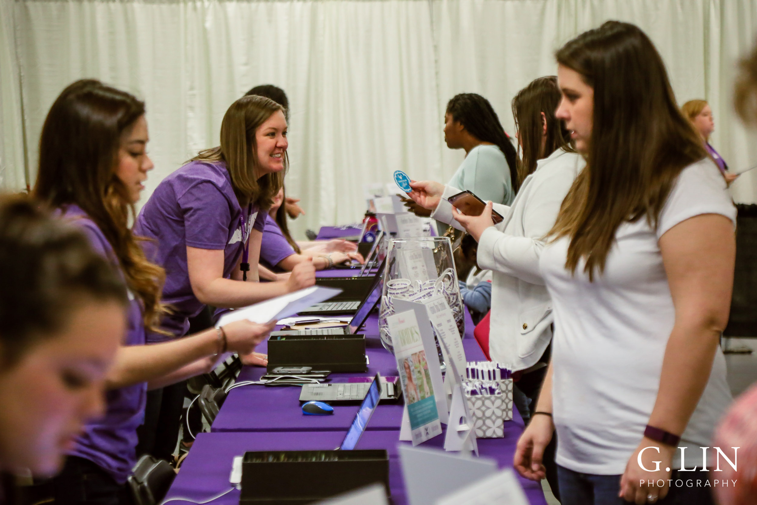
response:
[[[371,420],[371,422],[373,422]],[[523,429],[522,422],[508,422],[505,438],[478,440],[481,456],[497,460],[500,468],[512,466],[512,454]],[[246,450],[322,450],[337,447],[344,432],[229,432],[201,433],[189,451],[179,475],[173,482],[167,497],[187,497],[207,500],[229,488],[232,460]],[[366,432],[357,445],[359,449],[386,449],[389,454],[389,487],[394,505],[407,503],[405,486],[397,455],[399,432]],[[444,446],[444,435],[439,435],[422,444],[424,447]],[[546,505],[544,492],[537,482],[522,478],[520,483],[532,505]],[[223,498],[213,501],[219,505],[237,505],[239,491],[234,490]]]

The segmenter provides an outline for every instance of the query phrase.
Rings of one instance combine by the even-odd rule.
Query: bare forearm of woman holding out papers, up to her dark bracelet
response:
[[[118,350],[114,365],[107,375],[107,388],[125,388],[139,382],[150,382],[188,363],[217,353],[219,347],[214,328],[161,344],[123,346]]]

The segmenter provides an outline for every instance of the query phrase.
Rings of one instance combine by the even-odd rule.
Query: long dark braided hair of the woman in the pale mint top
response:
[[[500,118],[489,101],[475,93],[460,93],[447,102],[447,114],[463,125],[472,136],[481,142],[491,142],[505,155],[510,172],[512,192],[520,188],[518,181],[518,153],[512,147]]]

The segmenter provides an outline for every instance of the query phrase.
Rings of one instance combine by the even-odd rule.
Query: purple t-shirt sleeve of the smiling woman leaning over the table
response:
[[[224,249],[229,242],[229,202],[212,182],[198,182],[179,196],[184,214],[186,245],[200,249]]]

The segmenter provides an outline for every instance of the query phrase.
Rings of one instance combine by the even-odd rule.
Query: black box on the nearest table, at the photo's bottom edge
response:
[[[245,453],[240,505],[300,505],[382,484],[389,496],[386,450],[268,450]]]

